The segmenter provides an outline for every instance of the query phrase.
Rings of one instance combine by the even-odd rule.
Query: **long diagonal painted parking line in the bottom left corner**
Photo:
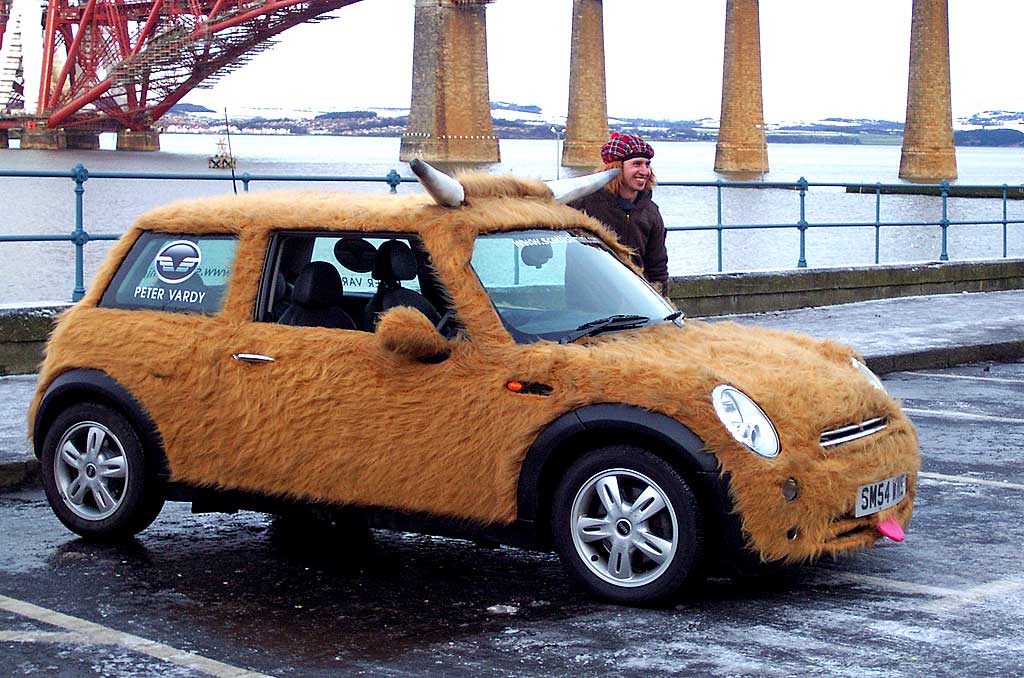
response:
[[[147,640],[139,636],[133,636],[130,633],[116,631],[115,629],[111,629],[100,624],[94,624],[93,622],[88,622],[77,617],[71,617],[70,615],[63,615],[46,607],[40,607],[39,605],[34,605],[31,602],[25,602],[24,600],[8,598],[4,595],[0,595],[0,609],[5,609],[20,617],[28,617],[29,619],[42,622],[43,624],[72,631],[73,633],[68,635],[74,636],[76,642],[85,642],[93,645],[117,645],[133,652],[147,654],[158,660],[170,662],[187,669],[202,671],[203,673],[216,676],[217,678],[266,678],[265,674],[233,667],[229,664],[224,664],[223,662],[218,662],[201,654],[196,654],[195,652],[187,652],[185,650],[177,649],[176,647],[171,647],[170,645]],[[29,636],[31,634],[38,634],[39,632],[25,631],[4,633],[19,633]],[[60,642],[53,639],[52,636],[39,636],[39,638],[45,642]]]

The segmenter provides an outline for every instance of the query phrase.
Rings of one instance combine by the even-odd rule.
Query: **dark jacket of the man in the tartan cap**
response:
[[[620,207],[617,196],[603,188],[572,201],[569,207],[589,214],[613,230],[618,242],[635,251],[633,261],[643,269],[649,282],[663,283],[669,279],[665,221],[649,190],[638,196],[636,206],[629,213]]]

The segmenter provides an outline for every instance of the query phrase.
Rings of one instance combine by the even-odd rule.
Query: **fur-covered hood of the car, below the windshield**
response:
[[[902,419],[899,404],[853,367],[853,348],[731,322],[688,321],[586,340],[591,401],[622,401],[686,424],[712,451],[735,448],[711,392],[729,384],[754,398],[784,449],[820,453],[822,431],[876,417]],[[574,386],[580,387],[578,382]]]

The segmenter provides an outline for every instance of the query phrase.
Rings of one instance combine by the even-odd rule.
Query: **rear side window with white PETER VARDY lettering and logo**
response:
[[[213,315],[224,304],[234,236],[139,236],[99,305]]]

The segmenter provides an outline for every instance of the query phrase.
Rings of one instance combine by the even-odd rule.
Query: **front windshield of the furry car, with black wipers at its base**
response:
[[[473,269],[520,343],[675,320],[672,306],[595,236],[531,229],[481,235]]]

